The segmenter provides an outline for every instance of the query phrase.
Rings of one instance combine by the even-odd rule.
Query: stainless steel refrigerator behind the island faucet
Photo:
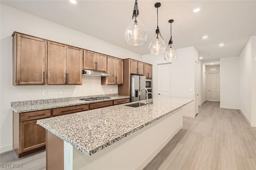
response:
[[[146,88],[146,76],[131,75],[131,102],[146,100],[146,90],[142,90],[140,93],[140,89],[143,87]]]

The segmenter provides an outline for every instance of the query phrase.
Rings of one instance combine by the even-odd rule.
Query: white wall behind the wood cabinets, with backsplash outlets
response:
[[[13,86],[11,35],[14,31],[119,58],[142,60],[140,54],[3,4],[0,6],[0,16],[0,152],[12,149],[12,111],[10,109],[12,101],[118,93],[116,85],[102,86],[100,77],[89,76],[83,76],[83,85]],[[77,90],[76,95],[73,94],[74,89]],[[47,96],[42,96],[43,90],[48,91]],[[64,91],[64,95],[60,95],[61,90]]]

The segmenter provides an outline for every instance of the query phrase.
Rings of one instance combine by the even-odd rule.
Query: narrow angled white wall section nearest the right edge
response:
[[[240,110],[252,122],[252,38],[240,54]],[[255,105],[255,103],[254,103]]]

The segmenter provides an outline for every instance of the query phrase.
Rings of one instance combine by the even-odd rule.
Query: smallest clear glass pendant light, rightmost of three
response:
[[[171,23],[171,38],[168,47],[164,51],[164,59],[166,61],[172,61],[174,59],[178,59],[178,51],[176,50],[174,45],[172,45],[172,23],[174,22],[174,20],[169,20],[168,22]]]

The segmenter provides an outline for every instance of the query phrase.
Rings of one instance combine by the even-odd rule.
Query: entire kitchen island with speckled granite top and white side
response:
[[[182,128],[182,107],[193,101],[153,100],[38,120],[47,130],[48,170],[144,168]]]

